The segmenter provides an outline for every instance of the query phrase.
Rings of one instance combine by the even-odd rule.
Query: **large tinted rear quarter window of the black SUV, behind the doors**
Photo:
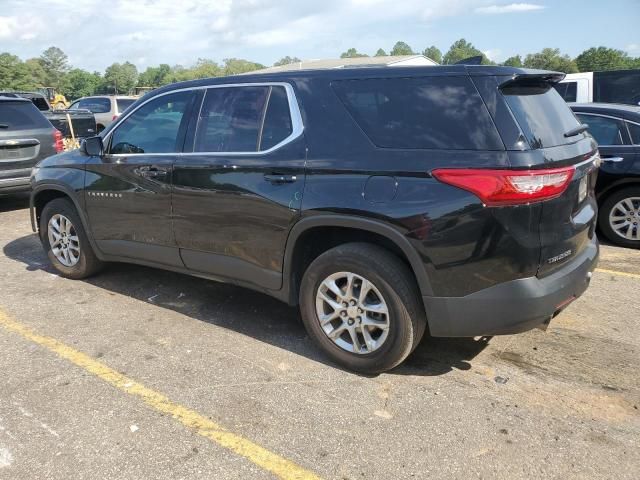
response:
[[[332,86],[378,147],[504,149],[469,77],[347,80]]]

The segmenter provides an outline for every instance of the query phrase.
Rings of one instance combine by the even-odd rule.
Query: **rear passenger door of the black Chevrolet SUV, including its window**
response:
[[[292,87],[207,89],[192,148],[176,161],[173,180],[184,264],[279,289],[304,188],[305,142]]]

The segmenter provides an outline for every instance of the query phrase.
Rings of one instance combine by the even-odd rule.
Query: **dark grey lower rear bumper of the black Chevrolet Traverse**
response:
[[[423,297],[434,337],[520,333],[547,323],[589,286],[598,262],[593,238],[581,254],[552,275],[501,283],[465,297]]]

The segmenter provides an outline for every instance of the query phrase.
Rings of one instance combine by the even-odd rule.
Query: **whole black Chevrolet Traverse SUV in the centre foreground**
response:
[[[300,305],[361,372],[435,336],[522,332],[598,257],[596,144],[508,67],[253,74],[148,94],[34,170],[32,223],[63,276],[133,262]]]

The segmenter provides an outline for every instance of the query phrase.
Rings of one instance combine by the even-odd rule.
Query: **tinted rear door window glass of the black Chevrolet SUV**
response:
[[[284,87],[211,88],[200,111],[195,151],[264,151],[285,140],[292,131]]]

